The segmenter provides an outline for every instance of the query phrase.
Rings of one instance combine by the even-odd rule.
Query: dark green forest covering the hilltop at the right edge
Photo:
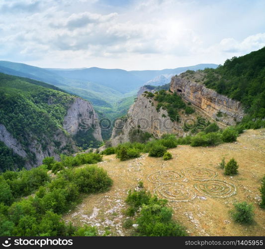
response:
[[[227,59],[223,66],[207,68],[202,72],[206,73],[203,81],[206,87],[243,104],[248,114],[242,121],[246,128],[264,126],[265,47],[241,57]]]

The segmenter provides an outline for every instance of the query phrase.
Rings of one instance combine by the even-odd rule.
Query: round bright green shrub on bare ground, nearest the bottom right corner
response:
[[[236,203],[234,204],[235,209],[232,210],[232,218],[235,222],[241,224],[251,224],[254,221],[254,207],[252,204],[247,202]]]

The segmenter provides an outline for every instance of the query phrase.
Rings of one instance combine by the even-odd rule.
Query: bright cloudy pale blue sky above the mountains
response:
[[[265,0],[0,0],[0,60],[147,70],[265,46]]]

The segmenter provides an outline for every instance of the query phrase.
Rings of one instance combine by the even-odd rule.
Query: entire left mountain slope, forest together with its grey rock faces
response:
[[[66,131],[62,127],[73,106],[74,123],[79,124],[74,115],[80,119],[89,115],[96,126],[87,101],[53,85],[0,73],[0,170],[30,168],[40,165],[46,156],[59,158],[60,153],[77,151],[73,136],[78,141],[78,128]],[[92,132],[87,142],[102,141],[100,128]]]

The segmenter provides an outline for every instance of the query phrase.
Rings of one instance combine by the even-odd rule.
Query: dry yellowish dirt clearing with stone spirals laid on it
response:
[[[261,179],[265,174],[265,129],[247,130],[235,143],[217,147],[178,145],[169,150],[173,159],[141,157],[120,162],[115,155],[103,157],[102,166],[113,179],[108,192],[84,196],[83,202],[64,216],[75,225],[92,225],[100,235],[126,236],[124,202],[128,189],[139,180],[146,189],[167,198],[174,218],[190,236],[265,236],[265,210],[259,207]],[[234,157],[237,176],[225,176],[219,167]],[[255,223],[231,220],[233,203],[247,201],[255,207]]]

